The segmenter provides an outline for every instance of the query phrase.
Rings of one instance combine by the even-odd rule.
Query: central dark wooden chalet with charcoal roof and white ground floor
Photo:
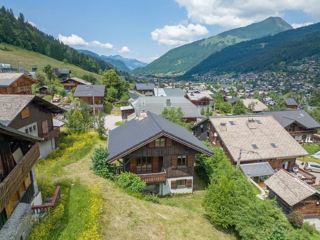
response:
[[[196,154],[213,155],[186,128],[144,109],[109,132],[107,148],[106,161],[121,162],[117,174],[135,173],[147,183],[146,192],[160,195],[192,193]]]

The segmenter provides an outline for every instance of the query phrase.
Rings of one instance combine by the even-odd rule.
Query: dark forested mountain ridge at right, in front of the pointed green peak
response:
[[[217,74],[276,71],[280,62],[285,65],[313,54],[320,54],[320,22],[228,46],[204,59],[184,77],[211,70]]]

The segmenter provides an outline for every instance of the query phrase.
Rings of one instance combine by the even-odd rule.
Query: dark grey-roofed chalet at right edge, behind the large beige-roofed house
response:
[[[304,110],[260,112],[272,115],[296,141],[310,139],[320,124]]]

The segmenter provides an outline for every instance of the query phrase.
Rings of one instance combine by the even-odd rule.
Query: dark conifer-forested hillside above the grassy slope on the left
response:
[[[106,69],[116,69],[116,67],[100,58],[83,53],[79,54],[76,49],[40,31],[28,21],[26,22],[22,13],[18,18],[15,18],[12,9],[5,9],[4,6],[0,9],[0,40],[29,51],[44,54],[58,61],[74,64],[94,73],[101,74]],[[5,61],[5,59],[1,61]]]

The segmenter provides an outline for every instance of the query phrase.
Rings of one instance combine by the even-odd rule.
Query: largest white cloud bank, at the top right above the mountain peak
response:
[[[175,0],[187,10],[188,18],[196,23],[237,28],[264,20],[282,17],[284,10],[301,10],[320,18],[319,0]]]

